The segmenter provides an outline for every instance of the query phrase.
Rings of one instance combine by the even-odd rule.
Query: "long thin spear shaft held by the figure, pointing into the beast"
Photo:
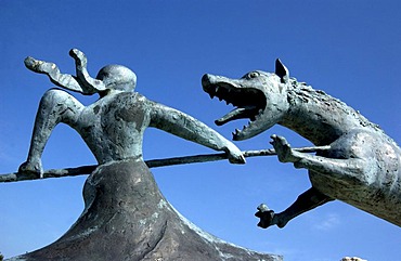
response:
[[[293,148],[294,151],[300,153],[316,153],[322,151],[327,151],[329,146],[313,146],[313,147],[298,147]],[[260,149],[260,151],[245,151],[243,152],[244,157],[257,157],[257,156],[272,156],[277,155],[274,149]],[[206,162],[206,161],[217,161],[227,159],[228,156],[225,153],[218,153],[218,154],[202,154],[202,155],[194,155],[194,156],[183,156],[183,157],[173,157],[173,158],[163,158],[163,159],[151,159],[145,160],[145,164],[148,168],[158,168],[165,166],[173,166],[173,165],[184,165],[184,164],[196,164],[196,162]],[[62,178],[62,177],[75,177],[75,175],[82,175],[82,174],[90,174],[98,166],[81,166],[77,168],[66,168],[66,169],[50,169],[43,172],[43,178]],[[21,174],[17,172],[9,173],[9,174],[0,174],[0,183],[1,182],[15,182],[15,181],[24,181],[24,180],[38,180],[39,177],[36,175],[26,175]]]

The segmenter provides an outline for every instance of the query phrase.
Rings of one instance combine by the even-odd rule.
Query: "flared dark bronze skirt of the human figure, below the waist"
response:
[[[165,199],[141,160],[100,166],[88,178],[83,198],[82,214],[60,239],[9,260],[282,260],[193,225]]]

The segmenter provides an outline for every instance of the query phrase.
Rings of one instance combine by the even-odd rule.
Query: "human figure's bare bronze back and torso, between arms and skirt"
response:
[[[148,110],[145,97],[138,93],[108,94],[85,107],[78,132],[100,164],[142,157]]]

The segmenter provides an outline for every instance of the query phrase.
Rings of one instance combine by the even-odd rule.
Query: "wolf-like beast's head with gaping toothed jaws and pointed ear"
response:
[[[275,74],[255,70],[241,79],[204,75],[202,86],[210,97],[217,96],[235,108],[215,122],[222,126],[229,121],[249,118],[248,126],[233,132],[234,141],[253,138],[279,123],[285,116],[289,104],[287,90],[290,86],[288,69],[275,62]]]

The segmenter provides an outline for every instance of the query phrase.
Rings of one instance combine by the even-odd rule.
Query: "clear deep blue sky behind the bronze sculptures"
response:
[[[21,1],[0,0],[0,173],[26,158],[36,109],[52,84],[24,58],[55,62],[74,73],[72,48],[88,55],[91,75],[122,64],[138,75],[137,91],[183,110],[231,139],[242,122],[217,127],[231,109],[203,92],[205,73],[241,77],[290,75],[359,109],[401,143],[401,15],[399,1]],[[82,99],[88,104],[93,99]],[[270,148],[281,128],[237,142]],[[215,153],[159,130],[145,133],[145,159]],[[60,126],[44,151],[46,169],[94,164],[77,133]],[[306,170],[275,157],[154,169],[169,201],[203,230],[236,245],[284,255],[286,261],[399,260],[401,230],[340,201],[298,217],[283,229],[256,226],[256,207],[281,211],[310,184]],[[85,178],[0,184],[0,251],[16,256],[59,238],[83,208]]]

